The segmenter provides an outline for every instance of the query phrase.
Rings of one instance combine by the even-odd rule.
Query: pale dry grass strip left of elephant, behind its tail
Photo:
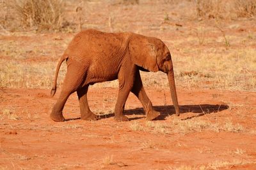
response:
[[[26,64],[23,62],[0,59],[0,86],[1,87],[27,87],[27,88],[50,88],[52,86],[52,74],[55,63],[45,62],[42,64]],[[64,65],[64,64],[63,64]],[[60,79],[63,80],[63,69],[60,72]],[[58,81],[61,85],[61,82]]]

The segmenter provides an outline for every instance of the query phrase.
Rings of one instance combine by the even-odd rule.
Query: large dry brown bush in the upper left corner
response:
[[[12,0],[6,1],[9,15],[24,29],[36,30],[60,29],[63,25],[63,1],[61,0]],[[8,20],[6,21],[8,22]],[[14,25],[13,25],[14,29]]]

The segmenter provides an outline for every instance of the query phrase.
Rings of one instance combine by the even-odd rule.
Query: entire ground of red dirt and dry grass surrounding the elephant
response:
[[[0,29],[0,169],[255,169],[255,18],[204,20],[191,5],[66,2],[72,27],[65,31]],[[100,120],[80,120],[76,94],[63,111],[68,121],[50,120],[66,67],[51,98],[56,63],[79,31],[77,6],[82,29],[163,39],[173,57],[180,117],[173,115],[166,76],[141,73],[161,112],[157,120],[146,121],[130,94],[125,105],[130,121],[115,122],[117,81],[89,89],[90,107]]]

